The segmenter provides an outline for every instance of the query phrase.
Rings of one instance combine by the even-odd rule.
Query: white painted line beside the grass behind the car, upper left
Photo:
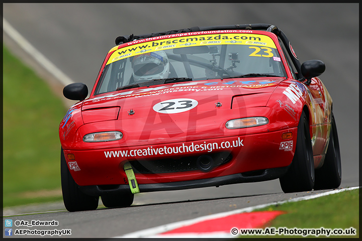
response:
[[[73,83],[67,75],[60,71],[49,59],[34,48],[18,31],[16,31],[3,17],[3,29],[25,52],[30,54],[43,68],[60,81],[64,86]]]

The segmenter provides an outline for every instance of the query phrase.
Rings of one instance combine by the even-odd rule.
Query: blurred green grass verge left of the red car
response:
[[[66,109],[48,85],[4,46],[3,68],[6,207],[34,202],[19,193],[60,188],[58,127]]]

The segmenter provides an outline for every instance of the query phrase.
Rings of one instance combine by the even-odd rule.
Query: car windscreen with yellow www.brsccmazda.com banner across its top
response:
[[[158,79],[195,81],[245,74],[287,77],[272,38],[260,34],[210,34],[161,39],[112,53],[95,94]]]

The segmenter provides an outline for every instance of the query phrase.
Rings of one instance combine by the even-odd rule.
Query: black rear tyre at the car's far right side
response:
[[[337,127],[334,115],[331,116],[331,132],[329,144],[323,166],[316,169],[314,190],[331,189],[339,187],[342,178],[342,168],[339,152]]]

